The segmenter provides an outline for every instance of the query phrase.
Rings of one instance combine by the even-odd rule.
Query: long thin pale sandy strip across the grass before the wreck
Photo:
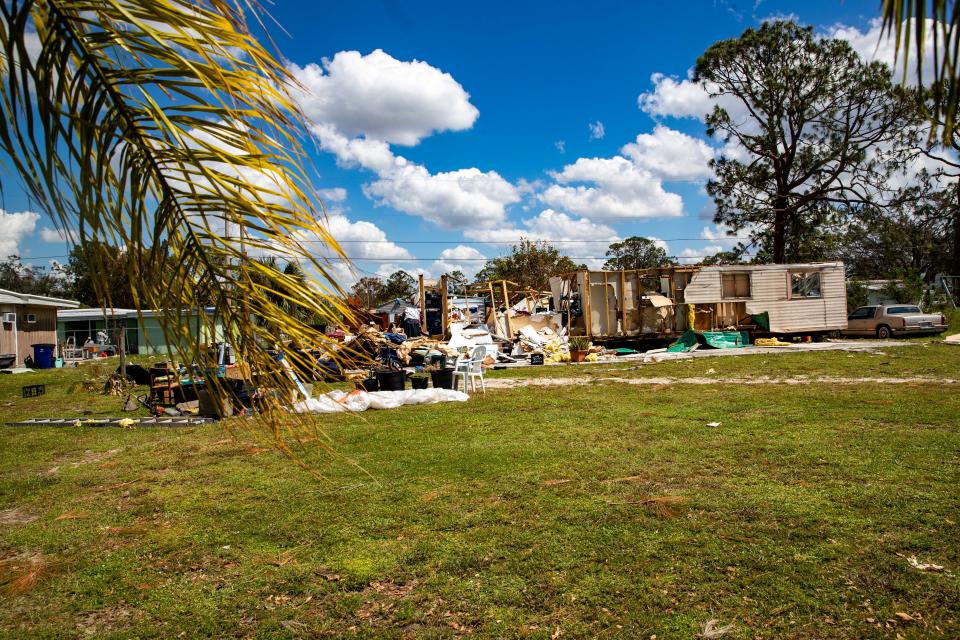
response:
[[[495,378],[486,381],[488,389],[517,389],[520,387],[567,387],[587,382],[612,382],[614,384],[633,384],[633,385],[674,385],[674,384],[911,384],[911,383],[931,383],[931,384],[957,384],[953,378],[844,378],[844,377],[819,377],[810,378],[807,376],[795,376],[792,378]]]

